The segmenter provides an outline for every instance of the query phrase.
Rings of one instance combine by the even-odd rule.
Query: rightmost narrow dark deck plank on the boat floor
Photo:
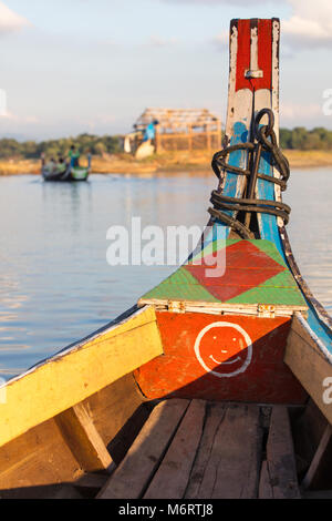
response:
[[[293,440],[284,406],[274,406],[272,409],[267,461],[273,498],[300,499]]]

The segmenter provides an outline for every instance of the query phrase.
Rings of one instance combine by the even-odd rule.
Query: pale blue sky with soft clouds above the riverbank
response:
[[[0,136],[126,132],[146,106],[225,119],[231,18],[279,17],[281,124],[322,125],[331,0],[0,1]]]

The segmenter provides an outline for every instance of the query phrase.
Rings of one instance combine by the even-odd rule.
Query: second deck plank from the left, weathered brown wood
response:
[[[184,498],[201,439],[206,402],[193,400],[144,499]]]

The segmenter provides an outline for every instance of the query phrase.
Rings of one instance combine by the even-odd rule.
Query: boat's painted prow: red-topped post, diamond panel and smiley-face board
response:
[[[136,371],[149,398],[270,403],[307,399],[283,362],[291,318],[294,313],[305,315],[307,304],[278,245],[262,238],[258,212],[264,212],[258,184],[268,184],[273,194],[280,187],[271,154],[257,141],[258,129],[271,126],[269,111],[278,133],[279,37],[278,19],[230,23],[228,146],[214,157],[221,183],[210,210],[210,224],[220,231],[215,236],[225,238],[207,238],[200,266],[196,255],[139,300],[156,306],[165,348],[163,358]],[[269,212],[274,219],[286,213],[274,203]],[[225,258],[220,276],[206,269],[211,248]]]

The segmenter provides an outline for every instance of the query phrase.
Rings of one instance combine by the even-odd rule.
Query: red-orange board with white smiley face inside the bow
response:
[[[165,354],[135,371],[147,398],[305,401],[283,362],[290,318],[158,311],[157,321]]]

